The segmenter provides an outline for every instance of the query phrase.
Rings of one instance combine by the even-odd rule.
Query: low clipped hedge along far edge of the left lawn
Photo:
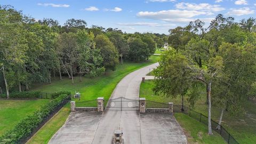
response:
[[[17,99],[36,99],[40,97],[40,92],[12,92],[9,96]],[[0,97],[7,98],[6,94],[0,94]]]

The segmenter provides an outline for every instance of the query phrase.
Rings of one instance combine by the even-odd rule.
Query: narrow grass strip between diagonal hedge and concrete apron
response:
[[[27,143],[48,143],[52,135],[66,122],[70,113],[69,105],[61,108]]]

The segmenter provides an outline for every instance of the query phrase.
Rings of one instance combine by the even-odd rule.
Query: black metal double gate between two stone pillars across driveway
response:
[[[127,98],[109,99],[105,110],[139,110],[139,100]]]

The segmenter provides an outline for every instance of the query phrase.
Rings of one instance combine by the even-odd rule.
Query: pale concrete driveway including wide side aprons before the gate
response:
[[[116,86],[114,92],[111,94],[111,99],[124,97],[127,99],[139,100],[139,90],[142,77],[156,68],[159,64],[154,63],[152,65],[135,70],[132,73],[125,76]],[[146,77],[146,79],[152,79],[154,77]],[[109,105],[109,103],[108,103]],[[71,114],[76,115],[76,114]],[[85,114],[86,115],[86,114]],[[170,114],[163,114],[161,121],[157,119],[158,114],[143,114],[140,115],[138,111],[105,111],[100,115],[95,115],[95,119],[86,120],[81,118],[77,121],[83,121],[84,125],[90,125],[90,127],[82,126],[77,130],[73,138],[66,137],[66,130],[71,125],[62,126],[62,128],[54,135],[49,143],[72,143],[71,141],[60,140],[61,135],[63,139],[76,139],[73,143],[111,143],[114,135],[114,131],[121,129],[123,131],[124,142],[127,144],[135,143],[186,143],[186,136],[183,134],[181,127],[175,121],[175,118]],[[70,118],[69,118],[70,119]],[[90,124],[85,124],[85,123]],[[154,127],[151,127],[154,126]],[[89,129],[88,129],[89,128]],[[150,129],[152,128],[152,129]],[[70,133],[73,133],[72,131]],[[62,132],[63,131],[63,132]],[[80,134],[79,134],[80,133]],[[90,134],[89,134],[90,133]],[[158,134],[156,134],[158,133]],[[162,133],[162,134],[161,134]],[[63,137],[65,136],[65,137]],[[87,137],[87,138],[84,138]],[[59,138],[59,140],[57,140]],[[55,141],[54,141],[55,139]]]

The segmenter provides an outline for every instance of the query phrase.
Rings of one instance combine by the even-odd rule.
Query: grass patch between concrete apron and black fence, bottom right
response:
[[[175,113],[174,116],[185,131],[188,143],[226,143],[226,141],[214,131],[212,136],[208,135],[207,126],[198,122],[196,119],[182,113]]]

